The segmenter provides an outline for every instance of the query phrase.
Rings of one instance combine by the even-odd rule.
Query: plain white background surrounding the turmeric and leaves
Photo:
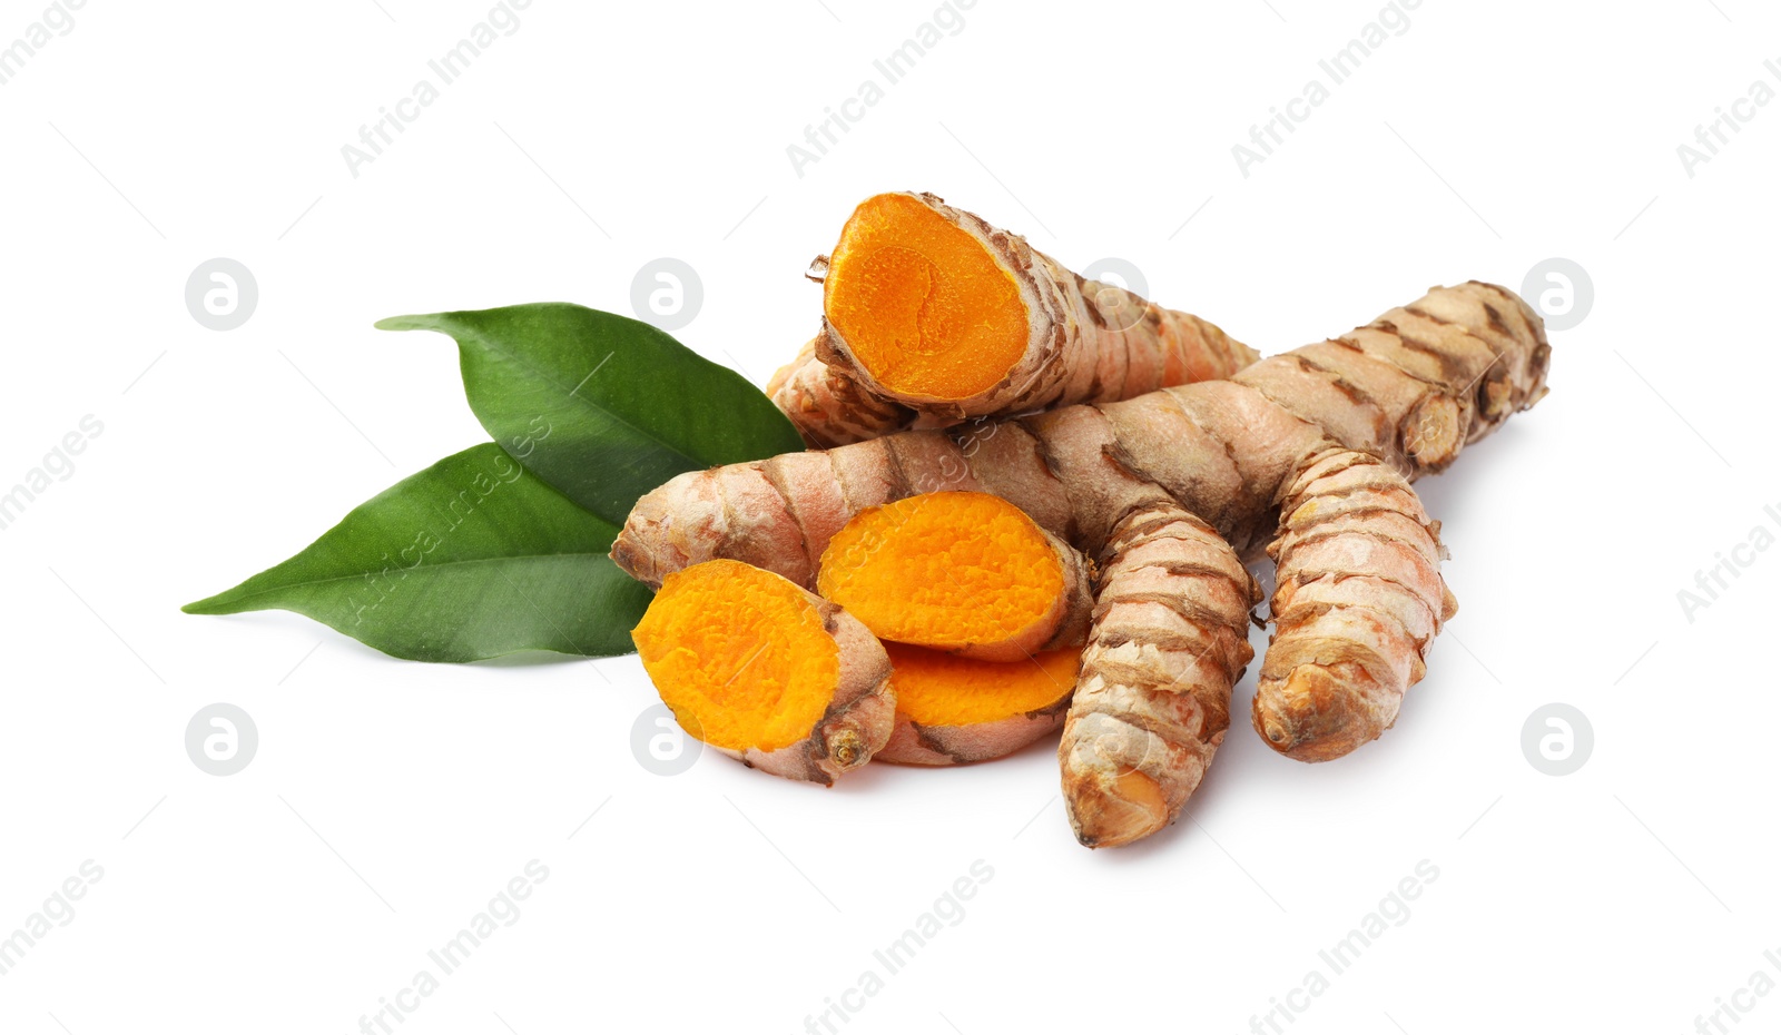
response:
[[[0,2],[0,46],[41,11]],[[520,919],[403,1031],[801,1031],[980,859],[964,919],[848,994],[850,1035],[1245,1031],[1425,859],[1439,878],[1295,998],[1295,1035],[1692,1031],[1781,980],[1781,552],[1678,604],[1781,531],[1781,103],[1694,176],[1676,151],[1781,89],[1772,7],[1427,0],[1243,176],[1232,144],[1377,0],[980,0],[800,176],[787,146],[931,0],[536,0],[354,178],[342,144],[486,11],[91,0],[0,87],[0,486],[105,428],[0,531],[0,933],[105,871],[0,976],[0,1030],[354,1031],[533,859]],[[1252,670],[1183,821],[1092,853],[1049,741],[832,791],[716,755],[668,778],[630,750],[634,657],[427,666],[178,613],[486,438],[451,342],[372,321],[630,312],[666,255],[703,281],[679,337],[759,383],[816,326],[805,264],[887,189],[1136,264],[1263,351],[1432,283],[1589,271],[1553,394],[1421,486],[1460,615],[1395,730],[1282,759],[1243,721]],[[214,257],[260,285],[228,333],[183,303]],[[219,700],[260,730],[233,777],[183,748]],[[1576,775],[1523,757],[1548,702],[1594,725]],[[1781,994],[1740,1001],[1740,1030],[1781,1026]]]

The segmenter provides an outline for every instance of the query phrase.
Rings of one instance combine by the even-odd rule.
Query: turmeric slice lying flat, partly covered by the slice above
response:
[[[898,697],[890,743],[874,757],[907,766],[956,766],[1010,755],[1063,725],[1081,650],[1024,661],[971,661],[887,643]]]

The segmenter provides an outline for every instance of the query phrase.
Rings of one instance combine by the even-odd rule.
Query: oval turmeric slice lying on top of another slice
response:
[[[882,640],[980,661],[1081,647],[1094,606],[1083,558],[980,492],[860,511],[823,552],[817,591]]]

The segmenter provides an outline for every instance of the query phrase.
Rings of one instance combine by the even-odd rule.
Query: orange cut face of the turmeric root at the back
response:
[[[940,401],[994,388],[1031,338],[1026,303],[996,255],[908,194],[853,210],[830,257],[823,312],[882,387]]]

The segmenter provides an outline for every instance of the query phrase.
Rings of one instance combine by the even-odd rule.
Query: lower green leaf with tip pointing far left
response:
[[[629,654],[650,591],[606,556],[618,527],[484,442],[404,477],[322,538],[191,615],[283,607],[385,654]]]

